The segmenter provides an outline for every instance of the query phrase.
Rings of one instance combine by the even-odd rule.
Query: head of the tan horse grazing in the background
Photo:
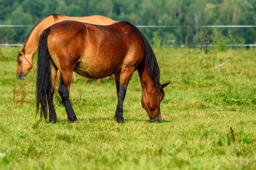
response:
[[[18,53],[16,76],[18,79],[25,79],[31,69],[32,61],[29,61],[22,51],[18,51]]]

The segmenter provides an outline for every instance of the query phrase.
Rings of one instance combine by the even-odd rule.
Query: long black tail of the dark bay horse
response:
[[[51,28],[47,28],[41,34],[38,45],[38,65],[37,65],[37,82],[36,82],[36,109],[37,113],[41,104],[40,116],[47,119],[47,99],[51,99],[51,57],[48,51],[47,38]]]

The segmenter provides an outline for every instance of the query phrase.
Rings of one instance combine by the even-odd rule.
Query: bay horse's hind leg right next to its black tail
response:
[[[49,121],[53,123],[58,122],[54,105],[53,105],[53,95],[54,95],[56,74],[57,74],[57,68],[52,64],[51,65],[52,87],[51,87],[51,94],[50,94],[51,96],[47,97],[47,100],[48,100],[48,108],[49,108]]]

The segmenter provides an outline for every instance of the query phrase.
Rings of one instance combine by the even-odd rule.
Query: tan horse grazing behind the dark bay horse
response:
[[[40,23],[38,23],[27,35],[24,46],[22,51],[18,51],[18,59],[17,59],[17,71],[16,76],[20,79],[25,79],[25,76],[28,74],[29,70],[32,68],[32,58],[36,51],[38,50],[38,42],[39,37],[44,31],[45,28],[48,28],[54,23],[58,23],[64,20],[74,20],[74,21],[80,21],[84,23],[91,23],[96,25],[102,25],[107,26],[111,25],[113,23],[116,23],[116,21],[104,17],[101,15],[93,15],[93,16],[87,16],[87,17],[67,17],[60,14],[53,14],[49,15],[47,18],[42,20]],[[76,81],[76,77],[74,76],[74,80]],[[110,80],[113,79],[113,76],[110,77]],[[99,82],[101,79],[98,80]],[[84,80],[85,83],[88,82],[88,79]]]

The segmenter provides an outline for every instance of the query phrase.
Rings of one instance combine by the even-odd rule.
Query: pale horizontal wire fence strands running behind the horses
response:
[[[0,27],[34,27],[34,25],[0,25]],[[215,25],[215,26],[137,26],[138,28],[256,28],[256,25]],[[23,46],[23,44],[0,44],[0,46]],[[189,47],[212,47],[218,45],[187,45]],[[256,44],[226,44],[227,47],[256,47]],[[175,45],[184,47],[184,45]]]

